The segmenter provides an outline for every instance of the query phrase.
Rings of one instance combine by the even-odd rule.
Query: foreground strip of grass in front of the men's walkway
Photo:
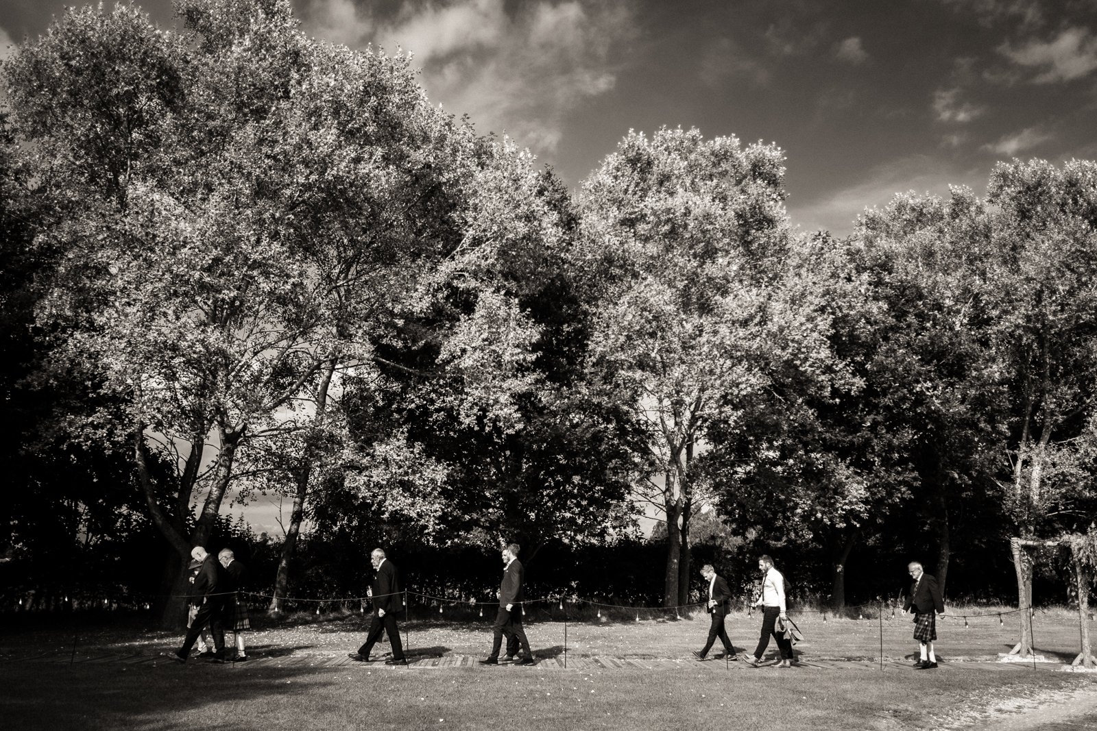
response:
[[[959,665],[680,673],[5,663],[9,729],[937,729],[1093,677]],[[930,710],[931,709],[931,710]]]

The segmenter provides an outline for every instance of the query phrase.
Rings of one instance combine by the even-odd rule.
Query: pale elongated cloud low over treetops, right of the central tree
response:
[[[825,197],[800,205],[788,202],[793,225],[803,231],[825,230],[847,236],[866,208],[885,205],[896,193],[915,191],[948,195],[948,186],[968,185],[976,192],[986,190],[988,171],[959,170],[948,161],[927,156],[901,158],[881,164],[861,181]]]

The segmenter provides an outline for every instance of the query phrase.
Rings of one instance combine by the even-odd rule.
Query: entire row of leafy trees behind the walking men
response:
[[[285,0],[177,11],[70,9],[3,62],[4,570],[124,535],[178,597],[261,494],[274,610],[306,525],[583,551],[653,505],[665,606],[699,542],[811,556],[836,605],[896,536],[942,587],[1004,556],[1020,605],[1027,546],[1092,542],[1094,162],[804,233],[774,145],[629,132],[573,193]]]

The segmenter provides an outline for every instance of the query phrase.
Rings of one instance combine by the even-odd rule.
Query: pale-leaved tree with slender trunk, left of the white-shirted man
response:
[[[695,129],[630,133],[584,185],[591,368],[646,430],[661,472],[665,603],[685,603],[694,457],[734,423],[774,362],[825,358],[807,309],[780,290],[788,227],[781,151]]]

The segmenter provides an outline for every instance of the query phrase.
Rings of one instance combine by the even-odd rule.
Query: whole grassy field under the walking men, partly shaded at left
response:
[[[947,662],[929,672],[906,666],[915,646],[902,616],[882,623],[883,672],[879,619],[801,616],[804,666],[791,671],[692,660],[703,615],[568,623],[567,670],[562,621],[528,623],[541,664],[482,667],[474,659],[490,647],[487,618],[412,619],[415,662],[387,667],[346,660],[362,641],[360,617],[258,619],[248,635],[255,660],[235,665],[178,665],[166,656],[178,635],[125,624],[5,630],[0,713],[13,729],[670,729],[724,719],[736,728],[897,730],[983,728],[1003,718],[1015,723],[1008,728],[1038,728],[1016,726],[1026,707],[1066,708],[1063,729],[1097,721],[1097,675],[1051,672],[1060,665],[1050,662],[1036,670],[985,662],[1016,633],[996,616],[969,618],[966,629],[942,619]],[[1078,633],[1068,612],[1038,610],[1033,627],[1041,654],[1073,658]],[[737,648],[753,646],[757,629],[757,616],[730,617]]]

